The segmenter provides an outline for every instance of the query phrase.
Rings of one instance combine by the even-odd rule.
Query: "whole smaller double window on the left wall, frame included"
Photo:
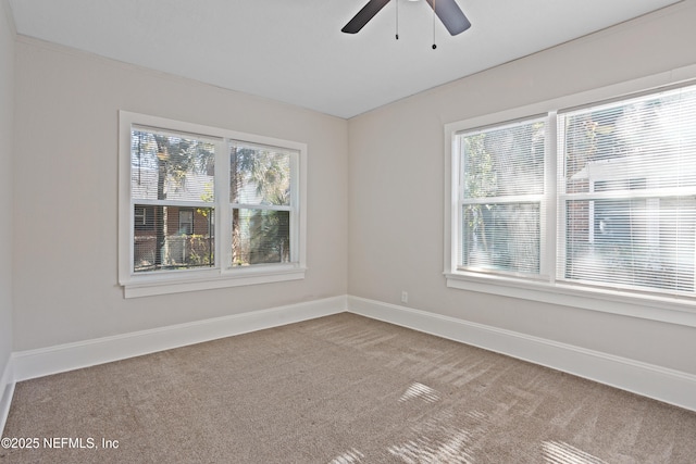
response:
[[[303,278],[303,143],[120,113],[126,297]]]

